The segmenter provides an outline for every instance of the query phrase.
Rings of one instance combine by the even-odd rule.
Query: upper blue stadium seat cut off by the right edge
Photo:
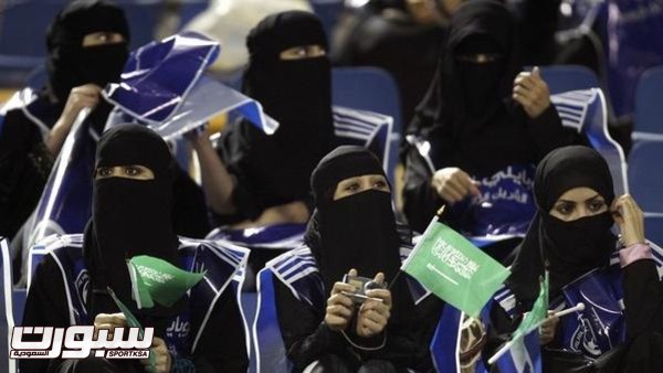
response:
[[[634,141],[663,141],[663,66],[648,70],[635,89]]]

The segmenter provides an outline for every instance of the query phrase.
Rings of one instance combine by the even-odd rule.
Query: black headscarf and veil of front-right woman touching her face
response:
[[[596,150],[570,146],[551,151],[536,170],[534,193],[537,214],[517,248],[509,287],[528,310],[538,294],[545,262],[550,273],[550,295],[587,271],[609,263],[617,238],[610,212],[564,222],[550,215],[555,202],[568,190],[590,188],[608,206],[614,200],[612,175]]]

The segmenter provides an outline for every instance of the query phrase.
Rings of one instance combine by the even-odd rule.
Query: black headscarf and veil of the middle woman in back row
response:
[[[250,61],[243,92],[281,124],[272,136],[248,121],[238,130],[236,141],[245,149],[240,168],[264,207],[305,199],[311,172],[333,148],[328,57],[280,60],[284,50],[312,44],[327,49],[320,21],[303,11],[270,15],[246,39]]]

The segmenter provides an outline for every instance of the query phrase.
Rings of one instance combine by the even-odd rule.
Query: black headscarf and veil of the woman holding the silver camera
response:
[[[305,242],[316,259],[327,295],[351,268],[370,278],[382,271],[388,283],[397,278],[400,268],[400,239],[391,194],[369,190],[334,201],[340,181],[364,174],[385,175],[385,171],[367,149],[343,146],[325,156],[311,177],[316,210]],[[412,298],[404,276],[391,284],[391,291],[394,319],[406,318],[404,309],[411,307]]]

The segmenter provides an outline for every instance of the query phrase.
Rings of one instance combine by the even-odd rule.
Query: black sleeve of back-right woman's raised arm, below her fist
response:
[[[564,127],[557,108],[550,104],[536,118],[529,118],[522,106],[516,108],[517,115],[527,121],[527,129],[536,148],[537,163],[550,151],[569,145],[588,145],[585,137],[572,128]]]

